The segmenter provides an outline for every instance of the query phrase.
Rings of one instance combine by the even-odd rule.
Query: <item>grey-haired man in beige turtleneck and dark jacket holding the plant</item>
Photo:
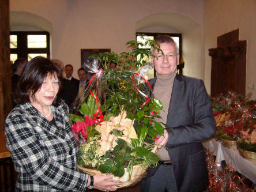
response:
[[[159,122],[164,129],[156,144],[161,157],[155,175],[141,182],[141,191],[203,191],[208,186],[205,151],[201,141],[214,136],[215,121],[204,82],[176,74],[179,49],[170,36],[158,36],[161,52],[151,58],[156,77],[150,80],[153,92],[163,103]],[[152,170],[149,170],[152,171]],[[154,170],[153,170],[154,171]]]

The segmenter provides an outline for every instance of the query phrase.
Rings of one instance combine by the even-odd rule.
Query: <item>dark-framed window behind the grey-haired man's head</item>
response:
[[[140,35],[143,35],[144,39],[141,39]],[[172,39],[174,39],[175,43],[177,44],[178,48],[179,48],[179,58],[182,58],[182,35],[180,33],[137,33],[136,35],[136,40],[137,42],[142,42],[144,43],[146,41],[146,39],[154,39],[157,35],[169,35],[172,37]],[[141,47],[142,48],[142,47]],[[145,47],[143,47],[145,48]],[[150,49],[150,47],[146,47],[148,49]],[[150,58],[148,59],[148,62],[150,61]],[[184,67],[184,65],[178,65],[178,73],[182,74],[182,68]],[[146,79],[150,79],[153,78],[155,76],[155,70],[149,70],[148,73],[144,74],[144,77]]]

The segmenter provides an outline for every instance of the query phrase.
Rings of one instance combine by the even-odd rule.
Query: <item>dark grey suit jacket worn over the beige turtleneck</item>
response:
[[[150,83],[155,85],[156,78]],[[202,191],[208,186],[201,141],[215,134],[215,121],[204,82],[176,75],[167,116],[167,148],[179,191]]]

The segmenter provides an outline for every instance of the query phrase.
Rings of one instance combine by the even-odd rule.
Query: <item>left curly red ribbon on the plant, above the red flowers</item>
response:
[[[98,82],[100,73],[101,73],[102,71],[103,71],[102,68],[100,68],[99,71],[97,71],[97,73],[99,73],[99,74],[98,74],[98,76],[97,76],[96,83]],[[88,87],[90,87],[91,82],[92,82],[93,78],[96,76],[97,73],[95,73],[95,74],[92,76],[91,80],[89,81]],[[93,114],[92,118],[93,118],[93,120],[97,123],[97,125],[101,125],[99,122],[100,122],[100,121],[104,121],[104,119],[103,119],[104,116],[103,116],[103,114],[102,114],[101,111],[100,111],[100,100],[99,100],[99,98],[98,98],[90,89],[89,89],[89,92],[90,92],[91,95],[96,99],[96,104],[97,104],[97,111],[95,112],[95,114]],[[98,114],[98,113],[99,113],[99,114]]]

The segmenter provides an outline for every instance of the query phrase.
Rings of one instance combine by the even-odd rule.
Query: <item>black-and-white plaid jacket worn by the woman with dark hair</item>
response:
[[[52,107],[55,127],[30,103],[16,106],[5,121],[7,149],[18,172],[16,191],[84,191],[88,175],[77,170],[78,146],[62,101]]]

